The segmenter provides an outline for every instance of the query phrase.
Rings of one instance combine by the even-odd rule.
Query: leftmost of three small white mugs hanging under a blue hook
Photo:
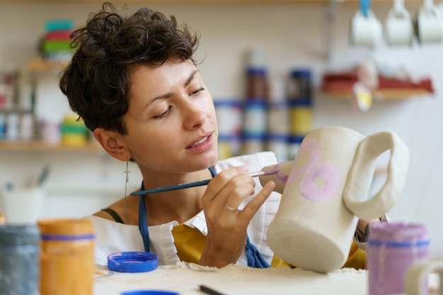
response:
[[[357,11],[352,16],[350,41],[353,45],[372,47],[381,40],[381,23],[372,11],[364,16]]]

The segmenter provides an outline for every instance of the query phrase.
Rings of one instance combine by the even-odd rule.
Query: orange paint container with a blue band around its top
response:
[[[94,231],[86,219],[39,220],[40,295],[92,295]]]

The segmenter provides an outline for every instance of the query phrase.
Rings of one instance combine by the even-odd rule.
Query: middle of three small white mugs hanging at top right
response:
[[[389,11],[385,31],[386,41],[391,46],[412,44],[414,35],[413,20],[403,6],[397,6]]]

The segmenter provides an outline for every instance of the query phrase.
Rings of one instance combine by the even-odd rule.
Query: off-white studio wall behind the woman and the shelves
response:
[[[418,4],[408,6],[411,14]],[[37,57],[36,44],[50,18],[72,18],[84,23],[90,4],[0,4],[0,66],[23,66]],[[136,6],[130,6],[134,9]],[[326,22],[326,6],[152,6],[175,14],[179,22],[202,34],[200,66],[214,98],[242,98],[244,54],[260,47],[267,54],[272,79],[286,76],[294,66],[310,66],[318,86],[323,70],[348,68],[368,54],[379,64],[403,65],[416,75],[429,74],[435,96],[374,103],[369,112],[358,112],[347,100],[329,100],[319,91],[315,96],[315,127],[343,125],[363,134],[381,130],[397,132],[410,149],[410,168],[403,196],[391,212],[398,221],[422,222],[432,235],[433,255],[443,255],[439,230],[443,214],[443,45],[413,45],[374,50],[349,45],[350,18],[355,6],[339,6],[335,23]],[[384,20],[390,6],[374,8]],[[332,34],[328,44],[327,34]],[[54,86],[55,87],[55,86]],[[62,100],[55,95],[52,99]],[[82,216],[121,197],[125,163],[106,155],[86,153],[21,152],[0,153],[0,180],[35,175],[46,162],[54,166],[48,183],[45,216]],[[130,187],[139,185],[132,168]],[[88,202],[86,202],[88,200]]]

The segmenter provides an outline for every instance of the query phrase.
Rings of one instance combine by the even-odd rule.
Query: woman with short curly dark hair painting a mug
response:
[[[262,187],[248,175],[275,156],[217,162],[214,104],[193,59],[198,36],[173,16],[142,8],[126,17],[103,4],[73,37],[76,52],[60,88],[108,154],[137,163],[141,190],[212,178],[207,186],[128,196],[88,216],[97,262],[146,250],[160,264],[287,265],[265,238],[280,202],[275,183]],[[357,247],[351,256],[364,265]]]

